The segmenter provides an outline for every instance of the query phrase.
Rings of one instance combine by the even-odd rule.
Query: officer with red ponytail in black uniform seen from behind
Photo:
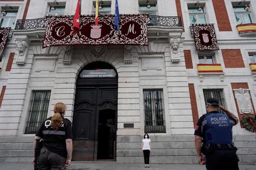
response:
[[[66,105],[56,103],[54,115],[41,124],[34,139],[43,139],[43,146],[38,157],[37,169],[59,170],[70,165],[72,159],[72,126],[69,119],[64,118]],[[33,159],[34,162],[35,158]]]

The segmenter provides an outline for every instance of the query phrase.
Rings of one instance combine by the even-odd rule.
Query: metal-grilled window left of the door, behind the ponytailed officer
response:
[[[51,91],[32,91],[32,95],[25,134],[35,134],[46,119]]]

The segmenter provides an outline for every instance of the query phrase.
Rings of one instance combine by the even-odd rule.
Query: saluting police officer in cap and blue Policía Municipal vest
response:
[[[238,123],[238,118],[219,105],[218,99],[207,99],[206,107],[207,113],[200,117],[195,126],[199,163],[206,164],[208,170],[239,169],[237,149],[232,140],[232,127]],[[226,114],[220,113],[218,108]]]

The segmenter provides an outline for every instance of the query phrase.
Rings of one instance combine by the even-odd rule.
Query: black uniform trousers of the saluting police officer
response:
[[[239,170],[239,159],[234,150],[213,150],[205,157],[207,170]]]

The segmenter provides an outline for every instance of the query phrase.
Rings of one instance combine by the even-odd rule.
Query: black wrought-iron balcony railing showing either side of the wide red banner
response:
[[[148,17],[148,26],[182,26],[181,17],[162,17],[158,15],[150,15]],[[30,30],[39,28],[46,28],[46,18],[17,20],[15,25],[15,30]]]

